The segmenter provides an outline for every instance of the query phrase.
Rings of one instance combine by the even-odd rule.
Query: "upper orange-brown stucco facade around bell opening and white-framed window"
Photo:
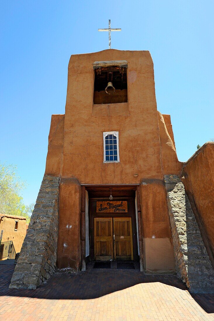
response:
[[[94,105],[93,62],[124,59],[128,103]],[[148,51],[108,49],[71,56],[65,116],[52,116],[45,174],[76,177],[81,184],[135,184],[143,177],[179,174],[172,132],[160,116],[161,123]],[[112,130],[119,132],[120,162],[104,164],[103,132]]]

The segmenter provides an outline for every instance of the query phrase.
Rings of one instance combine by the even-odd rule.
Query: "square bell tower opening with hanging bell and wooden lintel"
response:
[[[94,69],[94,104],[127,102],[127,61],[96,61]]]

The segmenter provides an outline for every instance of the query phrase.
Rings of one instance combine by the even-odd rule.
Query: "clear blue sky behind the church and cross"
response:
[[[0,161],[16,164],[35,202],[51,114],[65,111],[72,54],[149,50],[158,110],[170,114],[178,158],[214,138],[214,1],[1,1]]]

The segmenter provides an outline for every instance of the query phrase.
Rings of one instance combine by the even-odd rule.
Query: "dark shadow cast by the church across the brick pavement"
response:
[[[144,274],[139,270],[93,269],[80,273],[55,273],[47,283],[36,290],[8,289],[14,265],[0,265],[0,296],[28,297],[40,299],[94,299],[120,291],[136,284],[160,282],[183,291],[186,285],[174,275]],[[188,292],[189,293],[189,292]],[[214,312],[213,294],[191,294],[191,297],[207,313]],[[184,302],[185,305],[185,302]]]

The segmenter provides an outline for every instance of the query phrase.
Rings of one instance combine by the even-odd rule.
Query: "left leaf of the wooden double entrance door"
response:
[[[113,259],[112,218],[97,217],[94,226],[94,259],[109,261]]]

